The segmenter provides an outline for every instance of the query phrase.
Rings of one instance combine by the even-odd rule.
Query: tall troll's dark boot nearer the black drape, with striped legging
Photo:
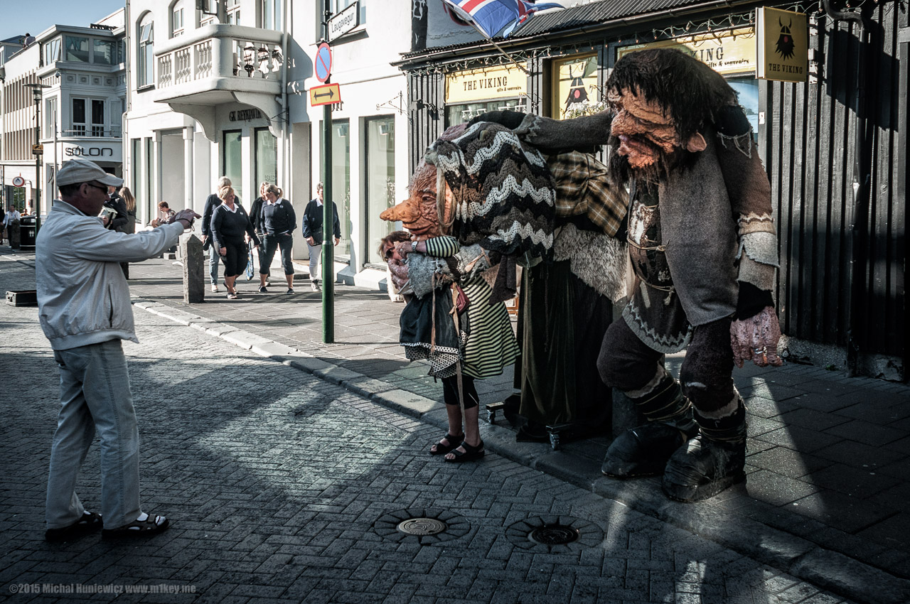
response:
[[[648,423],[613,440],[601,471],[612,478],[660,476],[673,451],[698,432],[692,403],[682,396],[679,382],[670,375],[647,395],[632,401]]]

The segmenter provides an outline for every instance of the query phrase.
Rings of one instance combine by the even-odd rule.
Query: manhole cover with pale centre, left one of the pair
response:
[[[432,545],[467,535],[470,524],[446,509],[411,508],[383,514],[373,524],[373,529],[379,537],[389,541]]]

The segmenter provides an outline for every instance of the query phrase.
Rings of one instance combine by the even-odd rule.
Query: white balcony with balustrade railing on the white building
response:
[[[155,48],[155,100],[194,117],[212,138],[214,108],[242,103],[278,115],[281,32],[203,25]]]

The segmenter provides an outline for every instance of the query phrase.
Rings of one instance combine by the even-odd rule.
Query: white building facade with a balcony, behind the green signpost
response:
[[[210,0],[205,11],[132,0],[124,165],[140,219],[160,200],[201,213],[219,176],[245,206],[273,182],[302,216],[320,178],[323,108],[308,91],[321,85],[322,21],[351,4],[358,25],[331,44],[329,81],[341,94],[331,106],[336,272],[359,285],[385,278],[375,248],[391,226],[379,212],[407,195],[410,176],[407,80],[389,65],[410,49],[410,0]],[[294,257],[306,255],[296,237]]]

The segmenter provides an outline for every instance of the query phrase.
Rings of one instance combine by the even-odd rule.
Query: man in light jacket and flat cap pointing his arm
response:
[[[177,243],[192,210],[172,224],[127,235],[98,217],[107,187],[123,180],[86,159],[57,172],[60,197],[35,242],[41,328],[60,366],[60,402],[47,480],[45,539],[65,541],[102,528],[102,537],[143,537],[167,518],[139,506],[139,434],[120,340],[137,342],[120,262],[140,262]],[[76,476],[95,432],[101,438],[101,515],[76,496]],[[102,520],[103,518],[103,520]]]

